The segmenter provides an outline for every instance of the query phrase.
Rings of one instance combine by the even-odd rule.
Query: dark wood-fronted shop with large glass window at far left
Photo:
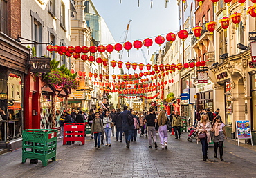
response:
[[[24,129],[24,75],[30,49],[0,32],[0,54],[0,148],[15,149]]]

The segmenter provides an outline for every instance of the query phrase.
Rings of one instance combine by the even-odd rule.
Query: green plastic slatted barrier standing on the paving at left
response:
[[[56,160],[57,129],[26,129],[22,137],[22,163],[36,159],[47,166],[48,159]]]

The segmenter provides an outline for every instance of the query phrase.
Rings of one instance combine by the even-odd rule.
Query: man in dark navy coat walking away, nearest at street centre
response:
[[[128,122],[128,115],[131,115],[131,112],[127,110],[127,106],[124,106],[124,110],[120,114],[120,117],[122,118],[122,131],[125,132],[125,142],[126,147],[130,147],[130,141],[132,136],[132,131],[134,129],[134,124],[130,125]]]

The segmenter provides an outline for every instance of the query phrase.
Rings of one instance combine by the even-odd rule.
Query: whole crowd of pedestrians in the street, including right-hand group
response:
[[[198,131],[198,141],[201,142],[203,161],[208,159],[208,144],[214,143],[214,157],[217,158],[217,150],[219,148],[219,156],[223,161],[223,141],[226,139],[225,124],[219,115],[220,110],[211,112],[209,108],[196,112],[194,126]],[[175,139],[181,139],[181,115],[178,111],[172,111],[167,116],[166,110],[155,112],[150,108],[148,112],[135,112],[128,110],[127,106],[120,109],[113,109],[111,112],[107,109],[99,108],[98,112],[89,110],[89,114],[85,115],[82,111],[71,114],[64,112],[61,116],[60,126],[61,135],[63,133],[64,123],[77,122],[84,123],[88,120],[91,127],[91,139],[95,140],[95,148],[104,145],[111,147],[111,136],[114,137],[116,130],[116,141],[122,142],[125,138],[126,147],[129,148],[132,141],[137,141],[137,135],[146,136],[149,141],[149,148],[158,148],[161,144],[162,149],[167,149],[168,130],[171,133],[174,130]],[[159,134],[160,141],[156,139],[156,133]],[[172,134],[171,134],[172,135]],[[61,136],[63,137],[63,136]]]

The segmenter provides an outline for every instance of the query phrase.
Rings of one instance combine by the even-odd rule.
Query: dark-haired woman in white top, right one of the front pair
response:
[[[221,116],[217,115],[212,123],[213,142],[214,142],[214,157],[217,158],[217,150],[219,147],[219,155],[221,161],[223,159],[223,142],[227,138],[225,124],[221,120]]]

